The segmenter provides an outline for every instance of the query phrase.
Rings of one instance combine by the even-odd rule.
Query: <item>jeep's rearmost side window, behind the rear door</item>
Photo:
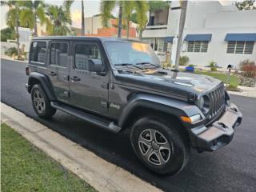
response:
[[[46,62],[46,42],[32,42],[30,50],[30,60],[32,62]]]

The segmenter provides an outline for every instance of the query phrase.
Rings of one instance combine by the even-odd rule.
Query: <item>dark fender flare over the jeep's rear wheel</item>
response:
[[[28,80],[28,92],[31,93],[32,86],[34,85],[34,80],[37,80],[41,83],[42,88],[46,91],[47,97],[50,101],[55,101],[56,97],[54,95],[54,90],[52,89],[52,85],[50,80],[44,74],[40,74],[38,72],[30,73],[29,80]]]

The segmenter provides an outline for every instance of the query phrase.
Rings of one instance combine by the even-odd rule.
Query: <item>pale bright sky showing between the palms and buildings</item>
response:
[[[238,0],[241,1],[241,0]],[[60,6],[63,3],[63,0],[45,0],[46,3]],[[234,1],[230,0],[219,0],[223,6],[227,6],[234,3]],[[84,0],[85,7],[85,17],[91,17],[95,14],[99,14],[99,5],[100,0]],[[7,6],[1,6],[1,29],[6,28],[6,12],[8,11]],[[72,26],[81,27],[81,1],[74,1],[71,6],[71,18],[72,18]],[[114,10],[114,15],[117,15],[118,10]]]

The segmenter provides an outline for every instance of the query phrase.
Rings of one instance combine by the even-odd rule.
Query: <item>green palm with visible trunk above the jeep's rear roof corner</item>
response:
[[[25,1],[20,14],[21,24],[34,28],[34,36],[38,36],[38,19],[40,24],[46,22],[44,3],[42,1]]]

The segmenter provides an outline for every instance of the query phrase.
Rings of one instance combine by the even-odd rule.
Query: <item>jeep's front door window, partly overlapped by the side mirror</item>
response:
[[[98,46],[85,44],[75,45],[74,65],[78,70],[101,71],[103,65]]]

